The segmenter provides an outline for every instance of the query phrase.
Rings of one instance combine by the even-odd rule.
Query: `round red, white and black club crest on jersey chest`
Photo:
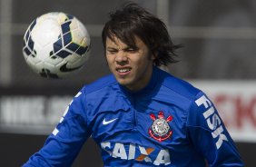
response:
[[[172,129],[168,124],[173,119],[171,115],[164,119],[163,112],[160,111],[157,118],[153,113],[150,114],[150,117],[153,120],[153,124],[149,128],[149,133],[153,139],[162,142],[172,136]]]

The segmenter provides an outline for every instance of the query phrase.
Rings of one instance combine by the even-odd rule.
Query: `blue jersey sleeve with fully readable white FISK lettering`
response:
[[[193,147],[205,157],[209,166],[243,166],[218,111],[202,92],[192,102],[187,130]]]

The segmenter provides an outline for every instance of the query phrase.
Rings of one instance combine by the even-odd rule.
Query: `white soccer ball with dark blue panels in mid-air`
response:
[[[64,78],[84,66],[90,54],[90,36],[74,15],[47,13],[27,28],[23,54],[35,73]]]

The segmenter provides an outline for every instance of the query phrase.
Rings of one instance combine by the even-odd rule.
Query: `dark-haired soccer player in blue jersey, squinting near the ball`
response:
[[[71,166],[90,136],[104,166],[243,166],[206,94],[159,68],[175,63],[180,47],[159,18],[125,5],[110,15],[102,37],[112,74],[75,95],[24,167]]]

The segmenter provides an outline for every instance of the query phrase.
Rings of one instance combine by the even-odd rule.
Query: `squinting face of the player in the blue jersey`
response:
[[[106,40],[106,59],[110,71],[118,83],[132,91],[138,91],[150,81],[153,72],[153,59],[149,48],[136,37],[136,47],[129,47],[114,37],[114,42]]]

